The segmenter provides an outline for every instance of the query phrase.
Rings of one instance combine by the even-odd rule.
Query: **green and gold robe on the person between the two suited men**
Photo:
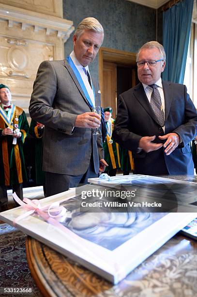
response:
[[[110,118],[107,122],[107,135],[106,140],[103,143],[103,148],[105,152],[105,161],[108,164],[106,171],[111,169],[118,169],[121,167],[120,155],[119,155],[119,145],[112,138],[112,132],[114,129],[115,120]],[[113,143],[110,144],[109,140],[112,139]]]

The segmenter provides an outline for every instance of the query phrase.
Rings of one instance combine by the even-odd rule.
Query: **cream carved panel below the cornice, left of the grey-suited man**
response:
[[[54,45],[0,35],[0,53],[0,83],[10,87],[13,101],[28,112],[38,66],[54,60]]]

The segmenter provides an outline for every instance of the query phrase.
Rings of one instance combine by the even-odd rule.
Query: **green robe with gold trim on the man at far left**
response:
[[[8,126],[14,130],[18,128],[21,132],[16,144],[13,144],[12,135],[2,135],[2,130]],[[27,181],[23,143],[28,132],[27,117],[21,108],[12,104],[12,108],[6,112],[0,106],[0,185]]]

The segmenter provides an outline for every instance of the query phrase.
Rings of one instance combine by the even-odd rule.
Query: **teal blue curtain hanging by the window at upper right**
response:
[[[163,46],[167,65],[162,78],[183,83],[194,0],[182,0],[163,12]]]

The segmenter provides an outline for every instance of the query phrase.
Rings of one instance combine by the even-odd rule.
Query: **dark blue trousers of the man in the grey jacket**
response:
[[[79,184],[87,184],[89,178],[98,177],[94,171],[91,157],[90,165],[84,174],[67,175],[45,171],[46,197],[67,191],[69,188],[77,187]]]

